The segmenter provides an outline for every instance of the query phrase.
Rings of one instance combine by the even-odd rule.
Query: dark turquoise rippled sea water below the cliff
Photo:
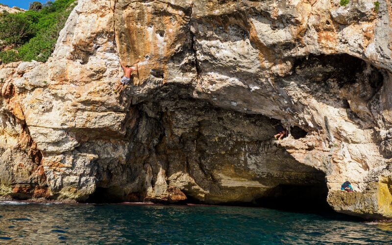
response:
[[[265,208],[0,202],[0,243],[392,244],[392,224]]]

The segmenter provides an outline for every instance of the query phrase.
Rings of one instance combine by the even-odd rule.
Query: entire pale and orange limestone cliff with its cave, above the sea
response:
[[[79,0],[47,63],[1,66],[0,195],[391,218],[391,18],[383,0]],[[140,60],[121,95],[119,59]]]

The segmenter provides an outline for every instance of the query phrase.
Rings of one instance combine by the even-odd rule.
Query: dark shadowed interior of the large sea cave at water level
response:
[[[195,197],[199,200],[195,200],[191,197],[192,194],[187,193],[186,188],[184,188],[182,191],[188,200],[178,204],[257,206],[293,211],[318,211],[329,208],[326,198],[328,190],[325,183],[325,174],[312,166],[298,162],[285,148],[274,145],[273,135],[276,131],[275,126],[281,123],[279,120],[263,115],[244,114],[217,108],[205,101],[198,102],[185,98],[173,100],[175,101],[169,104],[171,113],[165,113],[168,110],[167,107],[159,107],[156,110],[157,113],[160,113],[161,120],[156,123],[152,123],[155,121],[149,121],[154,128],[157,128],[157,144],[161,144],[160,142],[171,144],[171,147],[175,147],[176,154],[178,154],[170,155],[172,154],[170,150],[159,152],[161,154],[159,157],[162,159],[166,160],[165,157],[168,157],[168,162],[165,162],[165,168],[168,168],[166,170],[167,177],[176,172],[192,174],[199,173],[197,172],[199,169],[200,172],[207,172],[206,170],[223,172],[221,171],[223,169],[224,177],[222,179],[228,179],[229,182],[234,181],[236,184],[236,180],[231,178],[237,178],[237,173],[243,173],[244,175],[241,176],[245,176],[239,180],[240,184],[237,183],[234,186],[229,184],[227,186],[222,184],[220,178],[209,179],[203,174],[192,174],[191,177],[194,178],[194,181],[203,189],[208,190],[209,201],[203,202],[204,197],[200,198],[197,195]],[[197,114],[196,117],[194,116],[194,108],[197,102],[199,103],[197,108],[199,108],[199,111],[203,111],[203,114]],[[168,105],[168,102],[163,105]],[[184,118],[190,122],[186,124],[187,127],[193,125],[192,128],[181,131],[181,136],[172,136],[172,138],[168,137],[165,140],[159,138],[164,135],[162,132],[182,128]],[[298,129],[299,136],[304,136],[307,133],[301,131],[299,127],[294,126],[293,128]],[[164,129],[167,131],[164,131]],[[158,145],[155,149],[162,146]],[[221,153],[222,147],[225,150],[224,154]],[[250,157],[246,158],[246,164],[245,158],[243,158],[244,151],[250,154]],[[255,159],[254,161],[257,161],[257,164],[253,163],[251,158]],[[184,168],[184,164],[186,164],[186,168]],[[253,171],[256,167],[259,168],[257,172]],[[126,168],[130,168],[129,172],[134,172],[132,170],[134,165],[126,165]],[[155,177],[156,175],[153,176],[153,178]],[[246,181],[246,184],[244,184],[241,182],[243,178],[249,180],[250,184],[257,181],[260,185],[251,186]],[[146,189],[138,190],[141,192],[140,199],[134,200],[129,199],[130,194],[126,193],[126,190],[122,187],[125,186],[124,184],[118,184],[119,186],[114,187],[108,186],[108,183],[112,184],[111,182],[99,182],[98,180],[97,189],[87,198],[86,202],[146,201]],[[171,185],[172,183],[167,184]],[[154,185],[152,187],[154,188]],[[244,194],[244,192],[246,193]],[[261,196],[263,197],[260,198]],[[231,200],[237,202],[226,202]],[[154,199],[153,201],[165,203],[163,199]]]

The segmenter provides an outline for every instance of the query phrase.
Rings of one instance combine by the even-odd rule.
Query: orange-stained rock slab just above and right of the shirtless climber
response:
[[[156,3],[151,7],[127,9],[123,13],[126,29],[126,39],[119,40],[120,58],[125,65],[130,65],[140,59],[139,73],[134,76],[134,84],[146,80],[151,70],[164,73],[163,83],[166,82],[167,64],[175,53],[178,45],[184,45],[187,39],[185,25],[188,17],[179,14],[165,3]],[[156,11],[165,11],[170,14],[159,15]],[[116,28],[117,29],[117,28]],[[120,34],[116,35],[118,39]]]

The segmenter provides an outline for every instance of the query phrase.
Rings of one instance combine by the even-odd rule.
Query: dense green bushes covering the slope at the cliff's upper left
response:
[[[48,1],[41,9],[0,14],[1,61],[47,61],[74,3],[75,0]]]

